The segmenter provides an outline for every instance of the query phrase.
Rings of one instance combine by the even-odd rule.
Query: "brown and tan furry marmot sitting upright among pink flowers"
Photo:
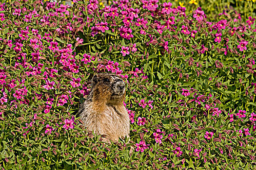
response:
[[[118,141],[130,134],[130,118],[123,101],[125,84],[115,74],[100,73],[92,79],[92,90],[79,108],[86,129],[105,135],[103,141]]]

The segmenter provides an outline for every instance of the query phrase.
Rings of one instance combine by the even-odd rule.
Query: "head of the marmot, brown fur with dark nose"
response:
[[[123,104],[125,84],[116,74],[100,73],[92,79],[92,99],[106,104]]]

